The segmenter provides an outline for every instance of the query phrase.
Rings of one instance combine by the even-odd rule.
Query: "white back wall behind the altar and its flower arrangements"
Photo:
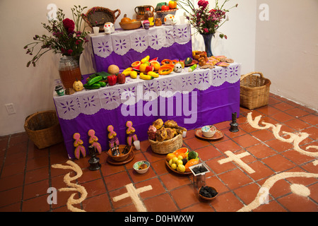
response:
[[[196,1],[196,0],[194,0]],[[315,0],[313,0],[315,1]],[[23,47],[33,40],[34,35],[42,35],[45,30],[41,23],[47,23],[48,4],[57,4],[64,10],[66,17],[71,16],[74,4],[81,6],[103,6],[122,11],[115,24],[126,13],[134,17],[134,8],[141,5],[155,6],[158,0],[1,0],[0,1],[0,136],[24,131],[25,117],[38,111],[54,109],[52,93],[54,79],[59,78],[59,57],[52,53],[45,54],[36,67],[26,67],[30,56],[25,54]],[[210,0],[211,6],[214,5]],[[257,3],[254,0],[233,0],[228,6],[239,3],[238,8],[230,11],[230,20],[221,31],[228,35],[228,40],[213,40],[213,53],[225,55],[242,63],[242,73],[254,71],[255,64],[255,30]],[[177,12],[177,18],[182,11]],[[198,40],[199,39],[199,40]],[[195,40],[194,50],[203,50],[201,37]],[[199,49],[201,47],[201,49]],[[85,53],[84,53],[85,55]],[[84,56],[85,58],[85,56]],[[82,73],[92,72],[89,61],[81,60]],[[262,69],[264,70],[264,69]],[[13,103],[16,114],[8,115],[5,105]]]

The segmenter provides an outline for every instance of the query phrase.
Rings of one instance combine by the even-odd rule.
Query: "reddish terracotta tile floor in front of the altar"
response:
[[[218,141],[199,140],[194,131],[188,131],[184,146],[199,153],[211,172],[206,174],[206,184],[218,190],[218,196],[211,202],[198,198],[195,183],[191,176],[180,176],[165,166],[165,155],[152,152],[148,141],[141,142],[141,150],[134,150],[134,160],[126,165],[109,165],[106,153],[98,155],[102,168],[98,171],[88,169],[89,157],[74,160],[83,170],[76,180],[88,192],[86,200],[74,205],[90,211],[137,211],[131,198],[114,201],[113,198],[127,192],[126,185],[134,184],[136,189],[151,185],[152,189],[139,194],[143,206],[149,212],[215,212],[237,211],[257,200],[261,186],[268,185],[274,175],[288,173],[295,177],[283,177],[272,182],[268,202],[252,206],[252,211],[318,211],[318,166],[317,157],[308,156],[295,150],[295,141],[278,141],[271,128],[255,129],[247,122],[247,114],[252,118],[261,115],[261,121],[281,124],[278,133],[282,138],[289,135],[283,131],[298,134],[309,133],[299,143],[301,150],[317,153],[318,114],[312,109],[295,104],[290,100],[271,94],[269,105],[252,111],[240,109],[237,119],[240,131],[231,133],[230,121],[216,124],[224,137]],[[261,124],[259,124],[261,126]],[[296,147],[297,148],[297,147]],[[299,149],[299,148],[298,148]],[[241,163],[229,161],[220,164],[230,151],[241,157]],[[317,156],[317,155],[316,155]],[[66,187],[64,175],[69,169],[55,169],[54,164],[66,165],[68,160],[63,143],[44,150],[38,150],[25,133],[0,138],[0,211],[69,211],[66,201],[74,191],[58,191],[57,204],[49,205],[47,189]],[[148,160],[151,168],[146,174],[136,174],[132,165],[137,160]],[[248,172],[243,165],[254,172]],[[305,176],[303,176],[305,174]],[[314,174],[313,177],[307,175]],[[297,186],[300,189],[292,189]],[[303,191],[300,194],[298,191]],[[80,198],[75,192],[74,198]]]

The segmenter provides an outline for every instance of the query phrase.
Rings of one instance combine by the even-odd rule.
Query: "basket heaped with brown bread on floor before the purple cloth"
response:
[[[148,128],[148,140],[154,153],[168,154],[182,147],[182,133],[187,129],[176,121],[157,119]]]

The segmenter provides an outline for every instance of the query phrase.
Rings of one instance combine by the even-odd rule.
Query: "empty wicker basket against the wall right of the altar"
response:
[[[259,74],[259,75],[257,75]],[[271,81],[261,72],[251,72],[241,77],[240,105],[255,109],[269,104]]]

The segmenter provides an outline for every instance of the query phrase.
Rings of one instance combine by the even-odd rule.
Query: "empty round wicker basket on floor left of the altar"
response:
[[[59,119],[55,111],[37,112],[29,115],[25,119],[24,129],[29,139],[39,149],[63,141]]]

